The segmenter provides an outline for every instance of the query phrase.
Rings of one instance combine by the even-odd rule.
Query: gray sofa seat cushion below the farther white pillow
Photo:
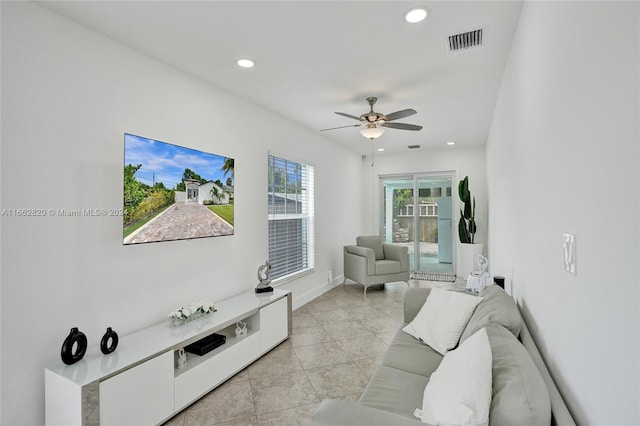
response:
[[[398,330],[382,359],[382,365],[429,377],[441,361],[442,355],[438,352]]]

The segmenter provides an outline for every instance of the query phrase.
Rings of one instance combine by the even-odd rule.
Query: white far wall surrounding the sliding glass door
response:
[[[391,131],[385,133],[383,137],[393,137],[390,133]],[[369,234],[379,233],[379,176],[451,171],[455,174],[455,180],[451,188],[454,218],[458,219],[460,216],[460,199],[457,195],[458,181],[464,179],[465,176],[469,176],[471,195],[476,197],[476,222],[478,225],[476,241],[484,243],[484,252],[486,254],[488,197],[484,147],[459,148],[454,146],[443,149],[409,151],[406,154],[376,154],[374,155],[373,167],[371,167],[370,157],[362,161],[364,194],[366,197],[363,213],[365,232]],[[457,246],[459,244],[457,228],[454,230],[453,240],[454,245]],[[459,262],[460,259],[458,258],[457,264]],[[489,265],[492,273],[500,275],[498,270],[491,267],[491,259],[489,259]]]

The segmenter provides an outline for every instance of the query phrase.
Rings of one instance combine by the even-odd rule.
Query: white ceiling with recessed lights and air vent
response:
[[[418,113],[387,129],[385,154],[484,145],[520,1],[46,1],[67,16],[149,56],[275,111],[311,131],[357,124],[375,111]],[[403,14],[422,5],[427,20]],[[451,53],[449,35],[484,28],[484,45]],[[249,57],[253,69],[236,60]],[[233,112],[231,112],[233,113]],[[251,117],[247,117],[251,125]],[[358,128],[321,134],[368,154]],[[452,148],[452,149],[455,149]]]

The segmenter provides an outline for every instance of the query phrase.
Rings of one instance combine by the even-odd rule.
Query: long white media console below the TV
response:
[[[242,293],[216,303],[213,315],[172,327],[169,321],[120,336],[115,352],[87,351],[73,365],[45,369],[47,425],[155,425],[247,367],[291,334],[291,292]],[[235,335],[236,322],[248,332]],[[212,333],[226,343],[203,355],[177,351]]]

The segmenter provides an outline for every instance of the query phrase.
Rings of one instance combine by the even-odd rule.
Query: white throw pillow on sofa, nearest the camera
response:
[[[448,352],[431,374],[421,419],[433,425],[488,425],[491,408],[491,346],[482,328]]]

